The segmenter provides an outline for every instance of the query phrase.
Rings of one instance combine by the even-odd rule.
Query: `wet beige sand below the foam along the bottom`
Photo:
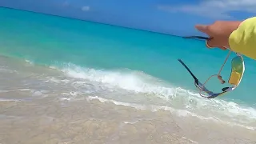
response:
[[[164,110],[136,110],[98,100],[53,100],[0,102],[0,143],[256,142],[255,131],[178,118]]]

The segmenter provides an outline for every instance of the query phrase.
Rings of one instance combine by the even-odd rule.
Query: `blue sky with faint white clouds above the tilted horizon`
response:
[[[176,35],[202,35],[195,24],[256,14],[256,0],[1,0],[0,6]]]

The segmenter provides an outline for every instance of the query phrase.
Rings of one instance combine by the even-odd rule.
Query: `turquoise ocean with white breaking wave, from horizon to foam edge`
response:
[[[166,106],[165,110],[256,128],[256,62],[250,58],[244,57],[246,72],[236,90],[206,99],[198,95],[178,58],[204,82],[218,74],[227,50],[209,50],[195,39],[6,8],[0,8],[0,22],[2,57],[58,71],[65,82],[101,87],[79,87],[73,95],[86,97],[90,91],[94,98],[120,105]],[[233,57],[222,71],[226,81]],[[214,78],[209,87],[220,91],[223,86]]]

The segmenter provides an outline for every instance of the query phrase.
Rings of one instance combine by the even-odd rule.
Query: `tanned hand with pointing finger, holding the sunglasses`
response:
[[[241,21],[216,21],[211,25],[196,25],[195,28],[209,36],[208,48],[218,47],[226,50],[229,46],[230,34],[238,28]]]

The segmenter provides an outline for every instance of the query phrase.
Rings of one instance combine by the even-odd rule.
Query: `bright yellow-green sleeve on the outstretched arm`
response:
[[[256,17],[243,21],[230,34],[230,49],[256,60]]]

